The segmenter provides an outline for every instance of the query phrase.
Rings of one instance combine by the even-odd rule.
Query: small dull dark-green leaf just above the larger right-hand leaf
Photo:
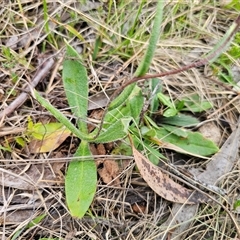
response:
[[[195,126],[195,125],[199,124],[199,120],[190,115],[185,115],[185,114],[179,113],[178,115],[176,115],[174,117],[162,118],[161,123],[175,125],[175,126],[179,126],[179,127],[190,127],[190,126]]]

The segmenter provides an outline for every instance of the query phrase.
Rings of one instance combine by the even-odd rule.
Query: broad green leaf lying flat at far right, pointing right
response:
[[[219,150],[215,143],[204,138],[199,132],[187,131],[187,137],[185,138],[170,133],[164,128],[157,129],[156,133],[160,141],[171,143],[189,154],[208,156]]]

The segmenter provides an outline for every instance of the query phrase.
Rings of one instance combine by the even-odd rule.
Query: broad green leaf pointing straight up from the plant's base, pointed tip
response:
[[[63,86],[72,113],[79,118],[79,130],[87,133],[88,110],[88,77],[81,62],[81,57],[67,45],[66,57],[63,62]]]

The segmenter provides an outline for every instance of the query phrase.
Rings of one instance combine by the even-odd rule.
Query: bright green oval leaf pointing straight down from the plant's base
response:
[[[97,186],[96,164],[89,144],[81,141],[74,157],[86,156],[86,161],[70,162],[65,179],[66,201],[73,217],[82,218],[93,201]]]

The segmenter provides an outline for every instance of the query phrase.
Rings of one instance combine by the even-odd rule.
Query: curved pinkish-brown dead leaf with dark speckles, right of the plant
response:
[[[159,196],[175,203],[197,204],[206,202],[208,198],[203,194],[184,188],[174,182],[159,167],[151,163],[132,144],[132,150],[137,167],[150,188]]]

